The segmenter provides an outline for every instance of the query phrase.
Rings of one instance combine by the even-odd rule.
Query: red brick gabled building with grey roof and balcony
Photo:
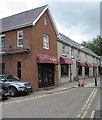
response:
[[[32,82],[33,89],[58,85],[57,36],[48,6],[2,19],[2,73]]]

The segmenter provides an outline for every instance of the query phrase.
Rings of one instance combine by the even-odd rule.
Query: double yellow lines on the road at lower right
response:
[[[98,89],[97,88],[94,88],[94,90],[92,91],[92,93],[90,94],[90,96],[88,97],[85,105],[83,106],[82,108],[82,111],[81,113],[77,116],[78,118],[85,118],[87,113],[88,113],[88,109],[90,108],[91,104],[92,104],[92,101],[97,93]]]

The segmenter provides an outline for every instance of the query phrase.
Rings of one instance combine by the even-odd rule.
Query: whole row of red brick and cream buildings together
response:
[[[30,81],[34,90],[99,75],[100,58],[59,33],[47,5],[0,21],[2,74]]]

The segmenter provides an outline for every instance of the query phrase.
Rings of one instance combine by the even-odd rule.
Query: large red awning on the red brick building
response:
[[[39,54],[37,56],[37,62],[38,63],[53,63],[53,64],[59,64],[59,59],[54,56],[49,56],[45,54]]]

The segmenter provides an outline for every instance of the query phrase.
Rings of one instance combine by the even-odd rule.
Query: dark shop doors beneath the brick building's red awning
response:
[[[54,85],[54,64],[38,64],[39,88]]]

